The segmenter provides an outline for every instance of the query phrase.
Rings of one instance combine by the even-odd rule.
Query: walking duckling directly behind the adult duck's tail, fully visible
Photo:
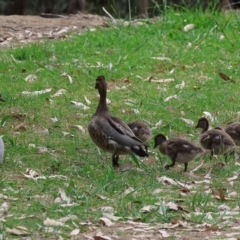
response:
[[[182,138],[168,139],[163,134],[158,134],[154,138],[154,148],[159,146],[159,151],[170,157],[172,164],[166,165],[165,168],[173,167],[176,162],[184,163],[184,172],[187,171],[188,162],[196,157],[203,155],[205,152],[201,147]]]

